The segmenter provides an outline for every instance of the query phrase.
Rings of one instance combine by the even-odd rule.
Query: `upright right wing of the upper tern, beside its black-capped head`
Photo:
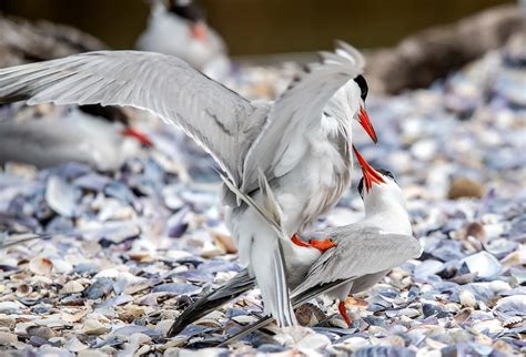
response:
[[[276,170],[287,150],[294,151],[286,160],[292,169],[302,159],[295,155],[306,149],[305,132],[321,125],[328,100],[346,82],[364,70],[365,61],[357,50],[338,42],[334,53],[322,52],[321,62],[311,63],[289,89],[275,101],[265,126],[246,154],[242,190],[256,188],[259,169],[272,180],[286,174],[287,169]],[[292,162],[291,162],[292,161]]]

